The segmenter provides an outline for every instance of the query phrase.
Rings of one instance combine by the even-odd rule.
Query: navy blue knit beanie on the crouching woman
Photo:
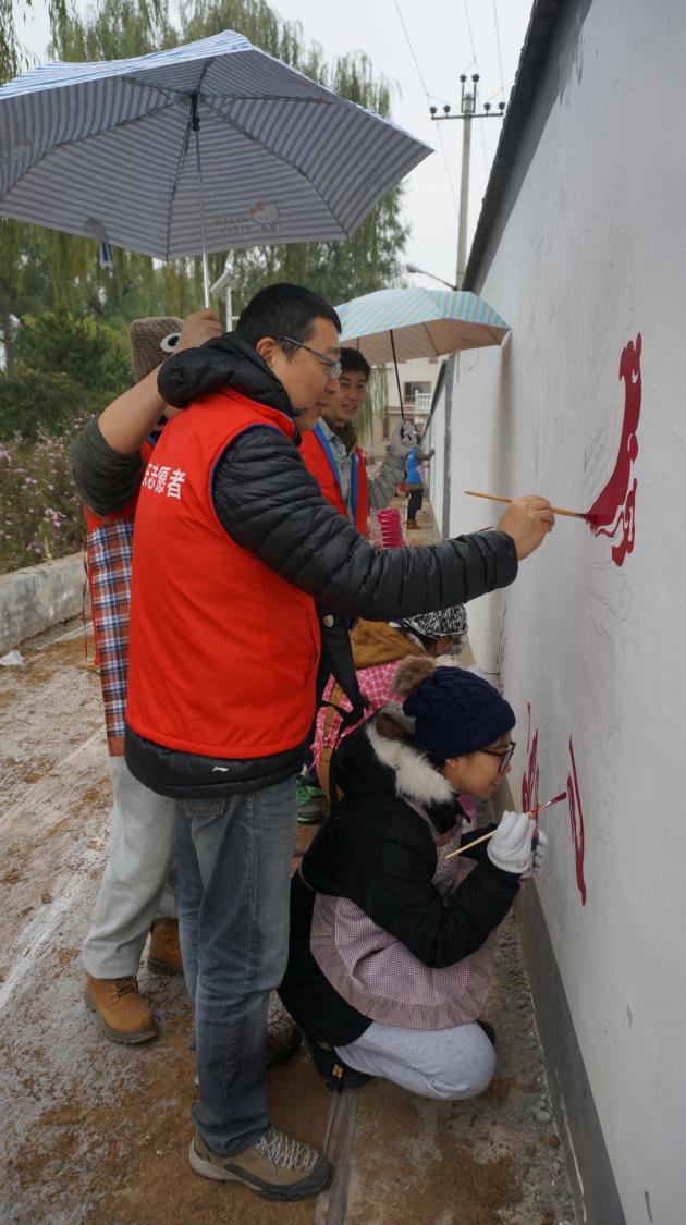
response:
[[[485,748],[517,722],[497,690],[464,668],[435,668],[403,710],[415,720],[417,744],[436,761]]]

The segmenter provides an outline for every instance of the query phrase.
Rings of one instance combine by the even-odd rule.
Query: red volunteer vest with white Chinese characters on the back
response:
[[[314,600],[232,540],[212,505],[214,464],[256,425],[293,437],[285,414],[234,391],[180,413],[136,512],[126,720],[154,744],[207,757],[285,752],[315,712]]]

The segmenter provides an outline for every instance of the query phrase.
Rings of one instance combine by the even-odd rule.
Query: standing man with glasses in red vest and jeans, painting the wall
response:
[[[288,958],[295,775],[315,713],[316,595],[372,620],[511,583],[554,517],[539,497],[500,530],[377,552],[298,451],[339,376],[336,311],[271,285],[235,333],[164,364],[167,426],[134,538],[125,748],[176,799],[184,973],[195,1001],[194,1170],[274,1199],[316,1196],[323,1154],[271,1123],[270,991]]]

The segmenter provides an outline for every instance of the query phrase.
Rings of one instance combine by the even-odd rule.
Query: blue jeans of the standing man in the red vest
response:
[[[295,778],[176,801],[180,940],[200,1079],[192,1120],[222,1156],[250,1148],[270,1126],[267,1008],[288,960],[295,829]]]

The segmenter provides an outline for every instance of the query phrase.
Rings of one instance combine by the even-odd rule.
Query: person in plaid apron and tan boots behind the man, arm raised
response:
[[[176,919],[173,801],[141,786],[124,760],[129,668],[131,545],[148,459],[168,409],[157,371],[176,349],[221,333],[214,311],[140,318],[130,327],[134,387],[77,435],[74,478],[83,499],[93,636],[103,691],[113,788],[109,858],[83,946],[85,998],[105,1038],[147,1042],[157,1020],[138,991],[138,963],[151,933],[148,969],[181,974]]]

